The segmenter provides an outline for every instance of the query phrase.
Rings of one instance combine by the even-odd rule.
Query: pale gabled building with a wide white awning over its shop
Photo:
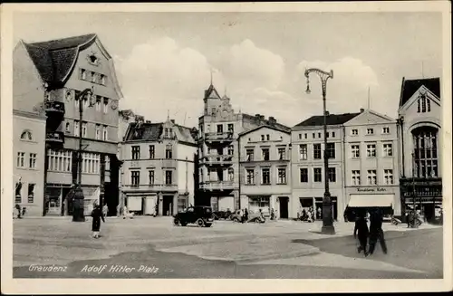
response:
[[[344,123],[344,143],[344,204],[379,206],[400,215],[396,120],[361,109]]]

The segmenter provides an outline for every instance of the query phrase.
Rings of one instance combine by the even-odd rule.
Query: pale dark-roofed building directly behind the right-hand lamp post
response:
[[[333,218],[342,216],[346,208],[344,198],[344,126],[360,113],[327,115],[327,149],[329,161],[329,191],[333,201]],[[313,206],[320,217],[323,210],[323,116],[312,116],[294,126],[292,141],[293,215]]]

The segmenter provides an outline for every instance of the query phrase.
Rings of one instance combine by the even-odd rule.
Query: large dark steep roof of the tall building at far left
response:
[[[52,85],[67,79],[80,50],[89,46],[95,39],[96,34],[90,33],[24,45],[43,81]]]

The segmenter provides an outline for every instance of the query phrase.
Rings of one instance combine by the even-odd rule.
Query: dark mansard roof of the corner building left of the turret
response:
[[[158,123],[141,123],[140,126],[137,122],[131,122],[129,124],[129,129],[126,136],[124,137],[125,141],[130,140],[143,140],[143,141],[157,141],[161,138],[163,133],[163,122]],[[141,130],[141,133],[136,133],[137,129]],[[187,142],[195,144],[195,138],[192,136],[192,129],[188,127],[183,127],[178,124],[173,126],[173,131],[178,141]]]

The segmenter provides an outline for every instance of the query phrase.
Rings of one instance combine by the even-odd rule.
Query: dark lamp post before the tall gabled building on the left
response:
[[[85,89],[81,93],[76,95],[75,100],[79,100],[79,150],[77,151],[77,184],[74,188],[73,199],[72,199],[72,222],[84,222],[85,215],[84,210],[84,196],[82,190],[82,119],[83,119],[83,104],[82,99],[88,96],[87,100],[89,106],[92,106],[93,90]]]

